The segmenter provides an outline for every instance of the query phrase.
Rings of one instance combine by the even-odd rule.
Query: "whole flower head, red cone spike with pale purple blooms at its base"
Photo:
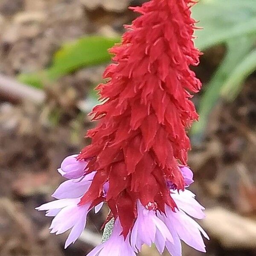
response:
[[[180,240],[205,251],[208,236],[193,219],[204,218],[204,208],[187,190],[193,173],[186,128],[198,119],[190,93],[201,88],[189,68],[200,55],[194,3],[151,0],[131,8],[141,15],[111,49],[108,82],[97,87],[104,103],[90,114],[99,120],[87,133],[92,143],[63,161],[59,172],[69,180],[52,195],[57,200],[37,208],[55,216],[52,233],[71,230],[65,247],[81,235],[90,209],[105,202],[113,233],[90,256],[136,255],[153,243],[159,253],[180,256]]]

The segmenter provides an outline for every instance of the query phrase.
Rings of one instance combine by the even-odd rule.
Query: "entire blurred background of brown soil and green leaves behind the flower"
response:
[[[67,250],[34,210],[63,181],[56,169],[88,143],[93,91],[143,0],[0,0],[0,255],[84,256],[100,242],[108,212],[90,214]],[[201,0],[193,8],[193,68],[203,82],[194,97],[200,122],[189,132],[191,190],[206,208],[207,253],[256,255],[256,0]],[[141,255],[158,255],[154,247]],[[165,253],[164,255],[168,255]]]

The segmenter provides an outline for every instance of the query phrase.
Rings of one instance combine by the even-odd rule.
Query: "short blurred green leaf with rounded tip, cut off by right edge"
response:
[[[229,101],[236,99],[241,90],[242,83],[254,70],[256,70],[256,49],[239,61],[236,68],[232,70],[221,89],[221,96]]]

